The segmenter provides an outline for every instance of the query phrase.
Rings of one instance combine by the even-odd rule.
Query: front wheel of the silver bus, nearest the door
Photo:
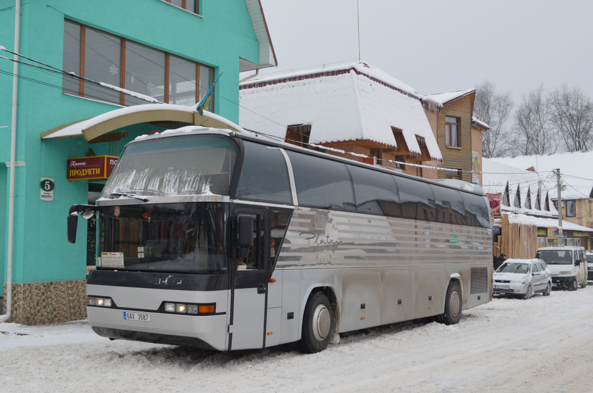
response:
[[[302,321],[301,340],[298,341],[302,353],[317,353],[327,348],[334,328],[331,303],[325,293],[315,292],[307,301]]]

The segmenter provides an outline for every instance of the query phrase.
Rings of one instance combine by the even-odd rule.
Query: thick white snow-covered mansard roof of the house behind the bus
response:
[[[397,147],[402,130],[410,153],[442,160],[422,96],[374,66],[353,63],[251,80],[240,85],[241,126],[284,139],[286,126],[310,124],[311,143],[373,141]]]

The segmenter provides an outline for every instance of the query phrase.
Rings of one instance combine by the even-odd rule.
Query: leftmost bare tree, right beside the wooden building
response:
[[[476,86],[474,113],[477,119],[486,122],[490,129],[482,132],[482,154],[486,158],[500,157],[511,150],[506,123],[514,103],[511,92],[498,93],[496,85],[484,80]]]

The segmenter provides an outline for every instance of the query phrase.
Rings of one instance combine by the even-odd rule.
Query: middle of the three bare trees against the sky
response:
[[[543,84],[527,94],[522,94],[513,115],[514,145],[522,156],[556,153],[560,143],[550,125],[549,105],[544,97]]]

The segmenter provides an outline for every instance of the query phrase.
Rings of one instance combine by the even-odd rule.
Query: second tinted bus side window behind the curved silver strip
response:
[[[348,166],[358,213],[401,217],[400,196],[393,176],[358,166]]]

